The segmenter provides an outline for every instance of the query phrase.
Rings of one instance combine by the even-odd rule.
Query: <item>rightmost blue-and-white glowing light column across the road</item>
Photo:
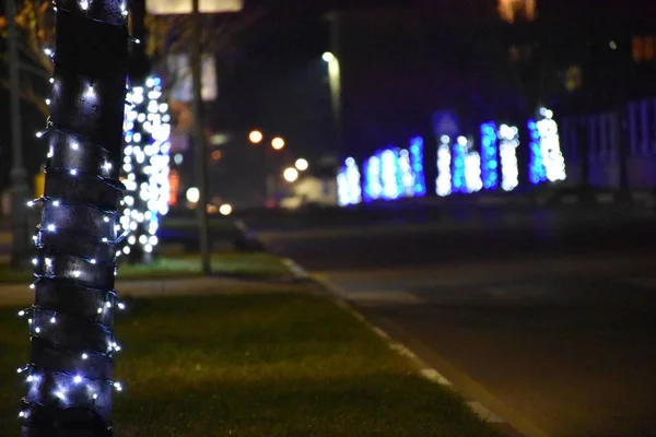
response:
[[[541,108],[540,120],[529,120],[530,162],[529,180],[531,184],[565,180],[565,160],[560,149],[558,123],[553,113]]]

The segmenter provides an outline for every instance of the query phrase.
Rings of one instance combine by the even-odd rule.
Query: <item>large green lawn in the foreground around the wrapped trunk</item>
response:
[[[0,429],[24,321],[0,310]],[[347,310],[305,294],[137,300],[118,320],[121,437],[497,436]]]

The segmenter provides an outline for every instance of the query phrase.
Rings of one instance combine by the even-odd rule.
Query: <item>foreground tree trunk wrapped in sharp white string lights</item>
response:
[[[52,57],[42,223],[34,241],[34,305],[21,436],[110,436],[122,122],[128,63],[126,4],[60,0]]]

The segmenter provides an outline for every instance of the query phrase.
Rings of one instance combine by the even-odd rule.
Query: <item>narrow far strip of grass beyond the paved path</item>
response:
[[[265,252],[219,253],[212,256],[212,269],[216,273],[281,276],[291,270],[284,260]],[[151,264],[121,264],[119,280],[144,280],[194,276],[200,274],[198,256],[161,257]],[[27,283],[32,280],[32,270],[16,270],[7,263],[0,263],[0,283]]]

